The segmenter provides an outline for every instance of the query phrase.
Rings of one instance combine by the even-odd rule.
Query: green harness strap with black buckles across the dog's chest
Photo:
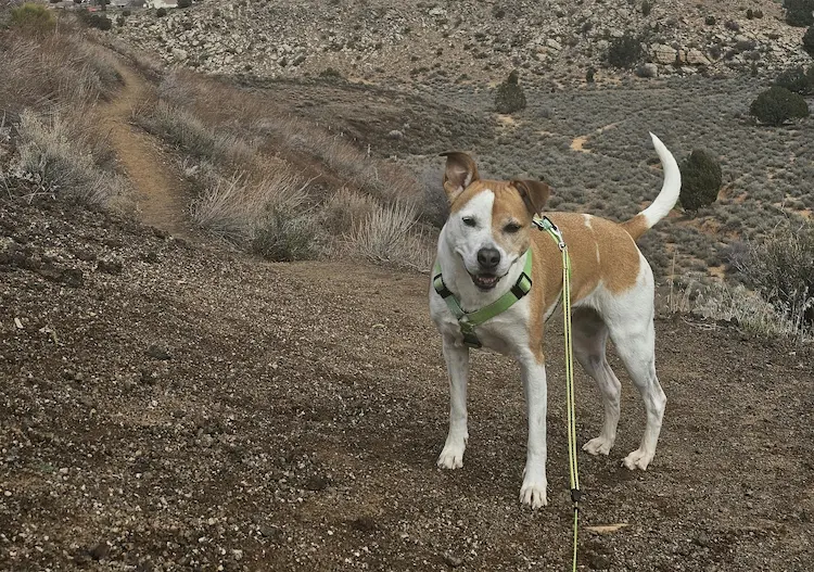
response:
[[[532,250],[529,249],[526,251],[523,271],[520,272],[514,285],[495,302],[475,312],[465,312],[463,308],[460,307],[458,298],[444,283],[444,278],[441,276],[441,265],[438,263],[435,263],[435,267],[433,268],[434,277],[432,279],[432,284],[435,292],[437,292],[438,295],[444,298],[444,302],[446,302],[449,312],[451,312],[453,316],[458,320],[461,334],[463,334],[463,343],[469,347],[481,347],[481,342],[478,340],[478,335],[474,332],[475,326],[480,326],[498,314],[506,312],[520,298],[525,296],[532,289],[531,274]]]

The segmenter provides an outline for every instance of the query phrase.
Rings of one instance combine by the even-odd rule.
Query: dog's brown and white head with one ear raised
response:
[[[466,153],[444,153],[444,192],[449,200],[445,237],[475,287],[492,290],[531,242],[532,218],[550,189],[540,181],[481,180]]]

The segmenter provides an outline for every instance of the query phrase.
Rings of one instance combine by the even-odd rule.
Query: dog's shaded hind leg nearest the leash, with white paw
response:
[[[608,455],[616,440],[619,402],[622,395],[622,384],[606,358],[608,327],[599,315],[589,308],[574,310],[573,325],[574,357],[596,382],[602,394],[605,408],[605,420],[599,436],[585,443],[583,450],[592,455]]]

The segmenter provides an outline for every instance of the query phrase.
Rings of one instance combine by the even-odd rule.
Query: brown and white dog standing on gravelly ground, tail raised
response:
[[[666,397],[656,376],[653,275],[636,239],[670,212],[681,190],[675,158],[651,137],[664,182],[645,211],[623,224],[584,214],[547,214],[571,255],[574,356],[596,381],[605,406],[602,430],[583,449],[608,455],[616,438],[622,387],[605,355],[610,338],[647,409],[639,448],[624,459],[628,469],[641,470],[656,454]],[[532,225],[548,200],[549,188],[538,181],[483,180],[466,153],[446,156],[444,191],[450,214],[438,239],[437,263],[446,288],[462,309],[476,310],[505,294],[523,270],[526,251],[533,253],[529,294],[479,326],[475,333],[484,347],[514,356],[520,364],[529,419],[520,500],[538,508],[547,504],[543,332],[562,292],[560,251],[550,236]],[[457,469],[463,465],[469,437],[469,347],[462,343],[458,320],[434,288],[430,289],[430,312],[443,336],[450,393],[449,433],[437,465]]]

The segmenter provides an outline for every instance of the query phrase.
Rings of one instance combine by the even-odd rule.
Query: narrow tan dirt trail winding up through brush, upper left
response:
[[[130,125],[133,111],[150,102],[149,85],[120,62],[116,62],[116,69],[125,86],[101,109],[101,116],[116,156],[136,188],[139,215],[148,225],[192,238],[193,230],[186,217],[183,181],[168,166],[168,158],[155,141]]]

